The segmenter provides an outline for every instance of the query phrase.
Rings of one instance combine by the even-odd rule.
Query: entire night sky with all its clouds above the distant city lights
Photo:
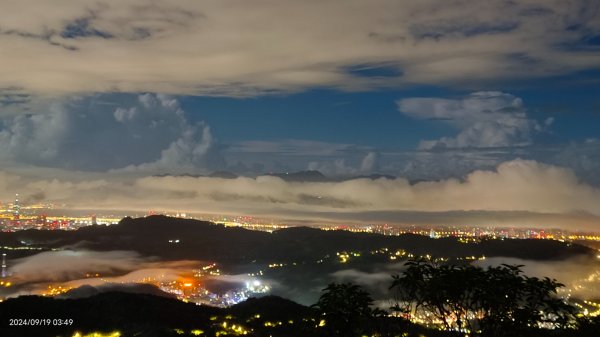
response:
[[[588,214],[549,205],[600,195],[598,1],[81,0],[0,12],[7,194],[316,170],[463,184],[434,191],[463,198],[439,208],[423,205],[441,192],[388,205],[321,191],[377,210]],[[531,185],[527,200],[568,192],[537,206],[471,202],[500,185]],[[308,207],[314,192],[274,191],[235,198]]]

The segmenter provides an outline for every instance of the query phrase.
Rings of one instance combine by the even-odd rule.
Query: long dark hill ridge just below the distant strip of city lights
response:
[[[593,250],[588,247],[552,240],[486,240],[465,244],[455,238],[431,239],[412,234],[384,236],[308,227],[267,233],[166,216],[125,218],[118,225],[89,226],[76,231],[0,233],[0,244],[4,246],[22,246],[23,243],[44,248],[77,245],[93,250],[135,250],[167,260],[198,259],[223,264],[314,260],[336,251],[368,251],[383,247],[444,257],[485,255],[552,260],[593,255]],[[22,251],[23,254],[27,252],[35,253]]]

